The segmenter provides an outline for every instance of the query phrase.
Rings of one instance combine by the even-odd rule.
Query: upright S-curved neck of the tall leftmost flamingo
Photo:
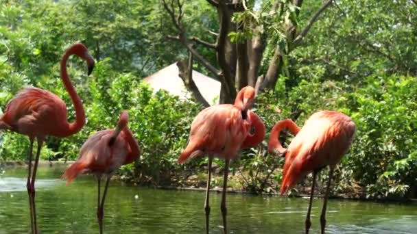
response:
[[[61,60],[61,79],[62,83],[64,83],[64,87],[67,90],[69,96],[71,97],[71,101],[74,105],[75,109],[75,121],[74,122],[67,122],[68,123],[68,132],[67,135],[73,135],[80,131],[86,122],[86,117],[84,113],[84,108],[82,107],[82,102],[80,96],[78,96],[77,92],[71,81],[69,80],[69,76],[67,73],[67,62],[70,55],[75,54],[71,49],[64,53]]]

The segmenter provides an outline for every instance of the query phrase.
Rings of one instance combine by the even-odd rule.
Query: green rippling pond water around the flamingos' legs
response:
[[[66,186],[63,167],[43,167],[36,181],[41,233],[98,233],[97,183],[82,176]],[[25,168],[0,176],[0,233],[29,233]],[[137,196],[136,196],[137,195]],[[136,198],[135,198],[136,196]],[[228,194],[230,233],[303,233],[308,199]],[[211,194],[211,233],[222,233],[221,194]],[[204,192],[154,190],[111,181],[105,233],[204,233]],[[322,199],[313,201],[319,233]],[[417,205],[329,200],[326,233],[417,233]]]

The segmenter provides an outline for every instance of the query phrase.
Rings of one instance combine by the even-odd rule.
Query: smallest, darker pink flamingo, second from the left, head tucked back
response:
[[[130,164],[139,158],[140,149],[134,135],[128,128],[128,112],[121,112],[115,130],[97,131],[88,138],[80,149],[77,161],[62,175],[68,179],[67,185],[81,173],[93,173],[97,177],[97,219],[99,232],[103,233],[104,200],[106,199],[108,183],[112,174],[125,164]],[[100,201],[100,182],[106,175],[106,185]]]

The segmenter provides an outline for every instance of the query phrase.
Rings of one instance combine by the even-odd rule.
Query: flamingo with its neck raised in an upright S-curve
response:
[[[67,121],[67,107],[62,99],[47,90],[34,87],[28,87],[19,91],[8,103],[5,114],[0,117],[0,130],[8,129],[29,137],[29,164],[26,187],[29,196],[32,233],[36,234],[38,233],[38,227],[35,209],[35,179],[43,142],[48,135],[65,138],[78,133],[85,123],[81,99],[69,80],[67,73],[67,61],[70,55],[78,55],[78,57],[86,61],[88,75],[93,71],[94,60],[84,44],[80,43],[73,44],[62,56],[60,64],[61,78],[75,107],[75,122]],[[38,141],[38,149],[32,170],[32,153],[35,138]]]

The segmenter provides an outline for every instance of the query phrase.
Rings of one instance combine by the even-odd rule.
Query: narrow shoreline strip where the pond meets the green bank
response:
[[[47,160],[39,160],[38,166],[40,167],[67,167],[73,164],[75,161],[47,161]],[[20,167],[20,166],[27,166],[27,161],[0,161],[0,168],[13,168],[13,167]],[[115,175],[113,177],[115,180],[123,181],[121,177]],[[205,192],[205,187],[195,187],[193,185],[190,186],[175,186],[175,185],[137,185],[136,183],[125,181],[126,183],[134,186],[143,186],[143,187],[154,187],[158,190],[178,190],[178,191],[198,191],[198,192]],[[214,187],[211,188],[210,192],[215,193],[222,193],[222,188]],[[291,195],[281,195],[276,193],[261,193],[261,194],[254,194],[252,192],[248,192],[245,190],[233,190],[228,189],[226,191],[228,194],[245,194],[250,196],[279,196],[279,197],[288,197],[288,198],[305,198],[309,199],[309,194],[291,194]],[[314,198],[323,198],[323,194],[314,194]],[[334,200],[353,200],[353,201],[361,201],[361,202],[374,202],[374,203],[417,203],[417,199],[413,198],[365,198],[365,197],[354,197],[348,196],[346,194],[334,194],[329,196],[329,199]]]

